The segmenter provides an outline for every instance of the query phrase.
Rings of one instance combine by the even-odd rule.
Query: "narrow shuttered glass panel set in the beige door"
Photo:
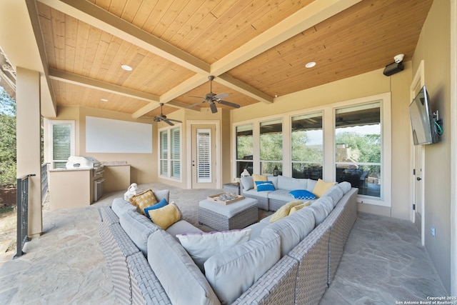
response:
[[[197,130],[197,181],[211,182],[211,129]]]

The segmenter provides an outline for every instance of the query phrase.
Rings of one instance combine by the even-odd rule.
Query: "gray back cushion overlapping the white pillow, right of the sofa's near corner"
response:
[[[211,256],[204,264],[206,279],[222,304],[231,304],[279,260],[278,234],[264,235]]]

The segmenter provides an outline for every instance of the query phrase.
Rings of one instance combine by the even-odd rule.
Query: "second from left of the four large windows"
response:
[[[276,119],[260,124],[260,171],[262,175],[272,175],[277,167],[283,171],[283,121]]]

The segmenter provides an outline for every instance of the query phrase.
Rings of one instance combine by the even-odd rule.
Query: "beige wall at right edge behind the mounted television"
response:
[[[450,1],[433,1],[413,56],[413,71],[416,71],[421,60],[424,61],[424,81],[430,95],[431,108],[433,111],[438,109],[443,119],[441,141],[425,147],[423,226],[426,249],[448,291],[451,291],[450,9]],[[436,237],[429,233],[431,226],[436,227]]]

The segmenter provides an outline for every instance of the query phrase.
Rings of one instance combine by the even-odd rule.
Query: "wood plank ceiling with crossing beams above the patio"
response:
[[[39,0],[36,14],[58,106],[154,117],[201,101],[209,75],[242,107],[411,60],[432,1]]]

